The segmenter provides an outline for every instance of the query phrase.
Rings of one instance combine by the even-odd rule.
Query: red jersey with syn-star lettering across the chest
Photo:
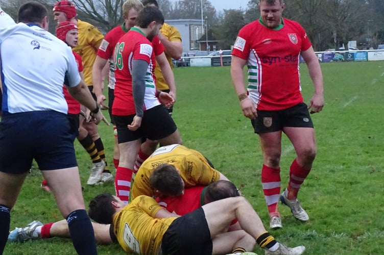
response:
[[[258,110],[283,110],[302,103],[299,54],[311,43],[301,25],[283,19],[270,29],[256,20],[242,28],[232,55],[247,60],[248,92]]]

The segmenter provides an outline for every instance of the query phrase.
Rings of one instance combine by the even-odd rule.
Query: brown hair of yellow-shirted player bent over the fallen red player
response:
[[[166,196],[179,196],[184,190],[180,173],[175,166],[169,164],[156,167],[149,176],[149,183]]]

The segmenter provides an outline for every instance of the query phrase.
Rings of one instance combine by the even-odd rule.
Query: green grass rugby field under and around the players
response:
[[[384,62],[321,64],[325,107],[312,115],[318,155],[299,199],[310,220],[296,220],[280,206],[283,228],[275,238],[290,246],[305,245],[305,254],[382,254],[384,247],[383,84]],[[265,225],[268,210],[262,193],[262,165],[258,137],[241,113],[229,67],[174,69],[177,103],[173,118],[183,143],[201,151],[249,199]],[[313,85],[301,65],[302,93],[308,103]],[[107,115],[107,112],[105,112]],[[381,117],[380,117],[381,116]],[[113,168],[112,127],[100,124],[109,165]],[[113,193],[113,184],[86,185],[90,160],[75,142],[84,198]],[[295,151],[282,143],[281,179],[285,188]],[[53,196],[40,189],[41,173],[27,177],[11,214],[11,229],[32,220],[60,220]],[[100,254],[123,254],[119,245],[98,246]],[[255,247],[254,252],[263,254]],[[69,239],[53,238],[22,244],[8,243],[4,254],[74,254]]]

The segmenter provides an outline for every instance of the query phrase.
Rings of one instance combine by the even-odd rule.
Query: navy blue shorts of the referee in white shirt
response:
[[[76,167],[73,131],[63,113],[4,113],[0,122],[0,171],[27,172],[33,159],[40,170]]]

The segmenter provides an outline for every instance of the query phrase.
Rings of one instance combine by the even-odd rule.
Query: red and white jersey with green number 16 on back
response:
[[[157,36],[151,43],[137,28],[131,28],[118,40],[113,53],[116,77],[115,98],[112,106],[113,115],[127,116],[136,113],[132,94],[133,60],[145,60],[149,64],[145,77],[144,111],[160,105],[160,101],[156,97],[154,69],[156,66],[155,56],[163,52],[164,46]]]

